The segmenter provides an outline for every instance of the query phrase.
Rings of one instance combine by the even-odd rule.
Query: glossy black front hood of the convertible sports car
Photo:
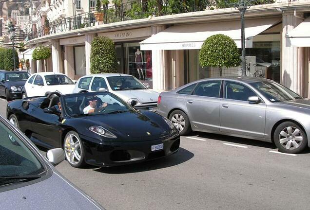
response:
[[[149,114],[152,116],[147,116],[139,112],[127,111],[116,114],[90,115],[82,118],[93,122],[97,121],[98,125],[109,125],[119,133],[122,133],[129,138],[159,137],[165,133],[167,134],[169,130],[167,130],[167,128],[163,128],[163,124],[165,124],[165,122],[162,117],[156,116],[157,114],[155,113],[154,115],[153,113]],[[113,132],[113,130],[110,131]]]

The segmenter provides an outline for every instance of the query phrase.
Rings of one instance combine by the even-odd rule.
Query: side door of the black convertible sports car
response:
[[[59,147],[61,133],[59,132],[58,126],[62,120],[60,116],[44,113],[41,107],[30,110],[29,114],[32,118],[32,137],[39,140],[39,143],[44,147]]]

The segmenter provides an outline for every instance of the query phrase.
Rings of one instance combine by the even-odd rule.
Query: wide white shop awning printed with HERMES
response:
[[[245,21],[246,48],[252,48],[252,38],[278,23],[279,18],[249,19]],[[176,25],[140,42],[141,50],[200,49],[211,35],[230,36],[241,48],[240,20],[213,23]]]

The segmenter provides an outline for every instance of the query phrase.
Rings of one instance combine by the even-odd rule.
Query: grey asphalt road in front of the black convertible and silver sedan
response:
[[[5,106],[0,99],[2,116]],[[56,168],[107,210],[310,208],[309,150],[288,156],[271,143],[205,133],[182,137],[180,147],[128,166],[76,169],[63,161]]]

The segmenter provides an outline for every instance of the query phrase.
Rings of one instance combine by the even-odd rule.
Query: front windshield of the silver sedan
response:
[[[291,101],[302,98],[289,88],[275,82],[256,82],[251,84],[271,102]]]

